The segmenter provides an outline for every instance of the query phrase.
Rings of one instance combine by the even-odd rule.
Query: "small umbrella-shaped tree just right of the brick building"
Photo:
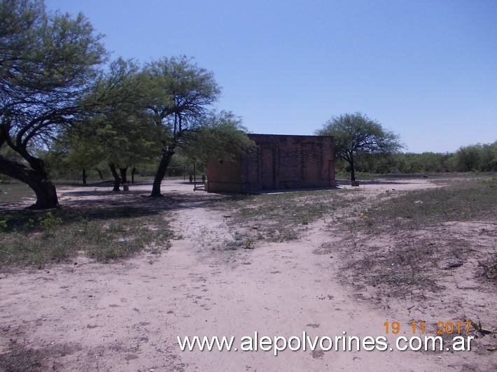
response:
[[[316,134],[333,136],[334,155],[349,163],[352,181],[356,180],[354,157],[389,155],[403,147],[397,135],[363,113],[332,117]]]

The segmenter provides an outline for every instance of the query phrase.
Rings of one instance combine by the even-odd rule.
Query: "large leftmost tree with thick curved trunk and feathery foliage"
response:
[[[59,132],[87,113],[80,104],[92,89],[106,52],[83,15],[48,15],[43,1],[0,3],[0,173],[27,183],[36,208],[58,206],[55,186],[33,148],[46,148]]]

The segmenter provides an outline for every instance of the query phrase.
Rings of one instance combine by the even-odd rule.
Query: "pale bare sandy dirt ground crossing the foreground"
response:
[[[374,196],[392,188],[435,185],[404,180],[394,187],[361,187]],[[149,188],[133,187],[134,194],[120,194],[116,197],[123,199],[115,202],[145,200]],[[167,181],[162,188],[176,198],[167,213],[173,213],[172,229],[181,235],[162,255],[113,264],[79,257],[43,270],[0,274],[3,358],[24,357],[43,371],[497,370],[497,354],[487,351],[488,345],[475,343],[470,352],[400,352],[395,350],[396,336],[385,334],[384,327],[384,322],[398,321],[410,337],[410,322],[455,321],[472,309],[495,320],[495,292],[461,298],[458,286],[470,281],[444,272],[455,283],[442,299],[446,306],[426,297],[377,299],[370,289],[361,293],[350,285],[351,277],[343,271],[343,241],[349,232],[335,223],[335,216],[309,224],[297,241],[221,250],[233,239],[230,213],[209,208],[209,201],[223,196],[193,193],[191,185],[179,181]],[[60,189],[61,203],[111,197],[107,191],[79,191]],[[148,200],[148,208],[154,208]],[[311,339],[335,340],[344,333],[386,336],[388,349],[394,350],[322,352],[307,345],[306,350],[285,350],[275,357],[274,350],[182,352],[177,342],[177,336],[235,336],[233,346],[239,349],[241,338],[254,337],[255,331],[258,338],[302,338],[304,331]]]

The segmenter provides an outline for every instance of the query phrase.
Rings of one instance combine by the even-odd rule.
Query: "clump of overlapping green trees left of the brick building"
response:
[[[207,154],[208,142],[228,151],[223,141],[236,151],[247,143],[239,118],[211,112],[221,88],[193,58],[143,67],[116,59],[104,72],[102,36],[83,15],[48,14],[43,0],[8,0],[0,3],[0,17],[0,173],[27,183],[36,207],[58,206],[38,156],[50,149],[82,167],[83,179],[85,168],[107,162],[116,190],[116,167],[123,176],[160,156],[152,190],[160,196],[176,151]]]

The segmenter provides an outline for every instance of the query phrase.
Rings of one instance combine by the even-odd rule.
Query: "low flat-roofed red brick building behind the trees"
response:
[[[333,139],[248,134],[257,147],[234,161],[207,162],[207,191],[252,192],[335,186]]]

